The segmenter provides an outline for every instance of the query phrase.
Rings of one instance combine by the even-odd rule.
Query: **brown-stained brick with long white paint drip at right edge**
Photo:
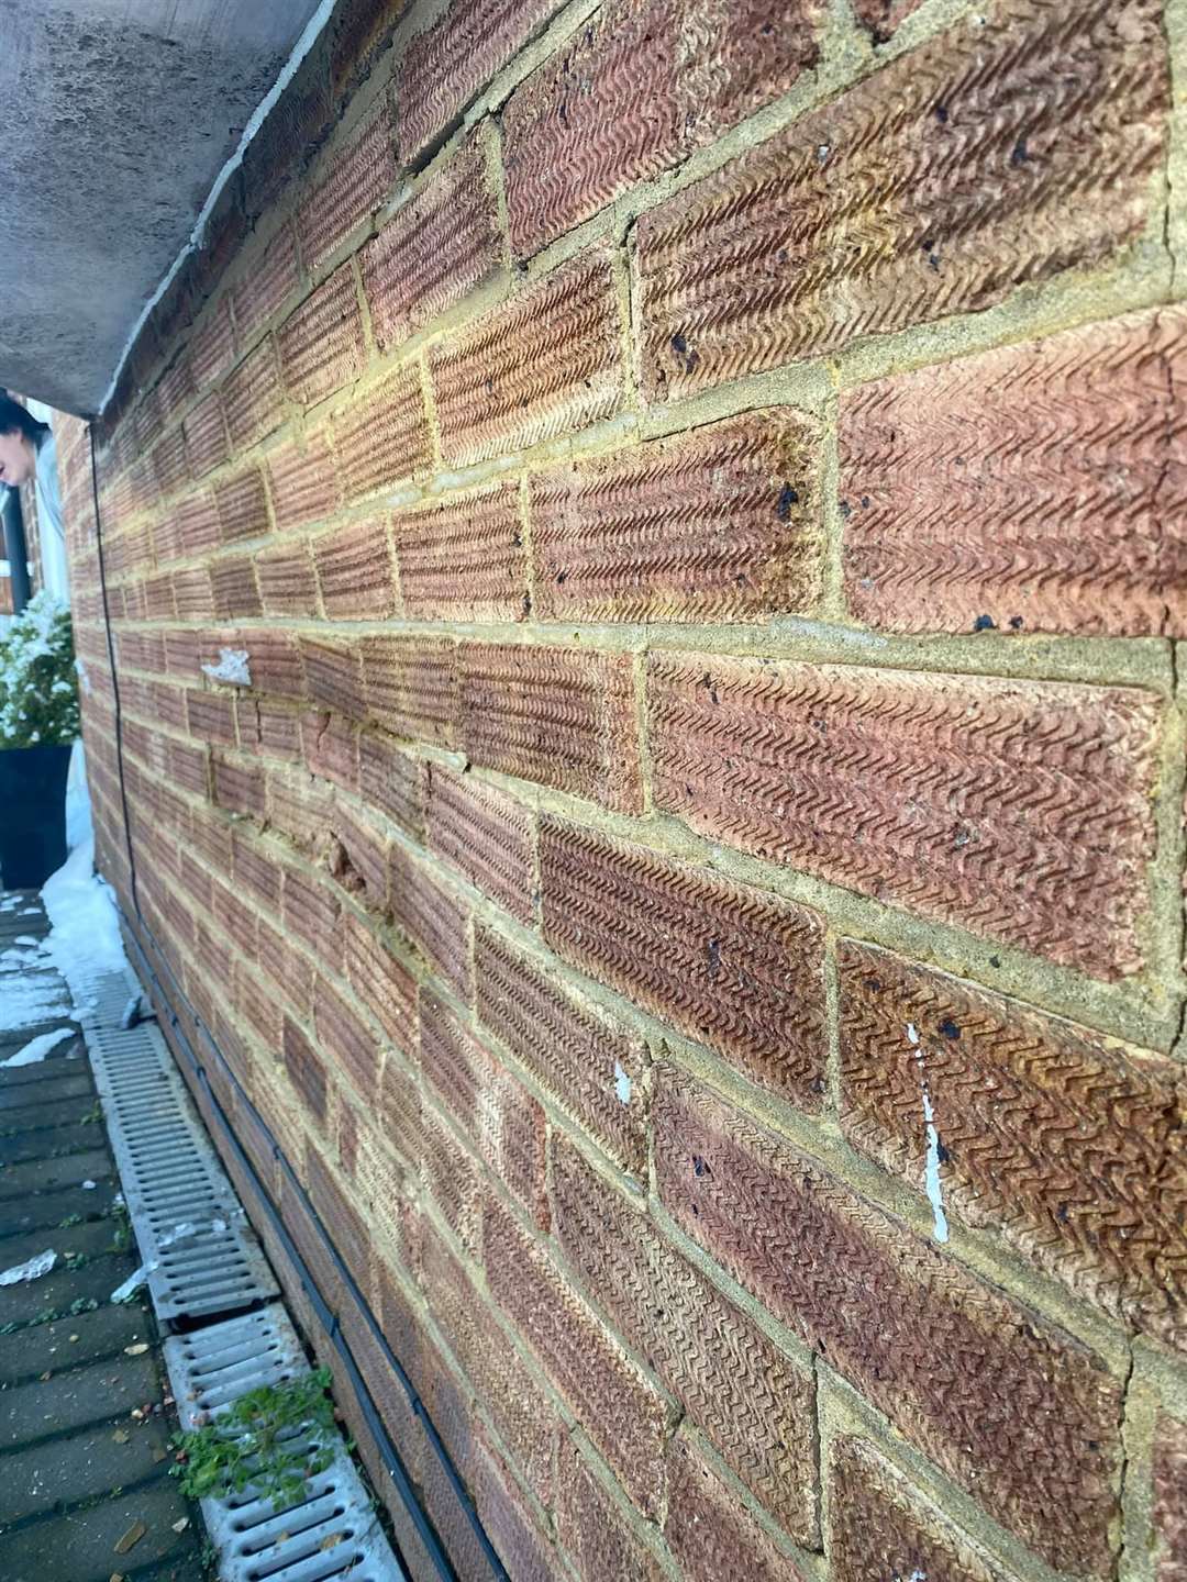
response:
[[[839,978],[850,1141],[923,1188],[926,1093],[948,1212],[1187,1349],[1181,1068],[889,951],[842,941]]]

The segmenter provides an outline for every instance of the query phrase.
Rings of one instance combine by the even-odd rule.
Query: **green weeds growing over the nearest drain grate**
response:
[[[329,1368],[241,1395],[206,1427],[179,1433],[182,1460],[173,1468],[192,1500],[242,1493],[247,1485],[274,1508],[304,1495],[307,1478],[334,1459]]]

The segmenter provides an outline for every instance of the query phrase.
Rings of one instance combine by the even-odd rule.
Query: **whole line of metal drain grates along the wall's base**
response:
[[[161,1327],[184,1329],[165,1365],[195,1429],[310,1367],[165,1038],[154,1022],[122,1025],[139,993],[130,971],[104,975],[87,984],[81,1022],[149,1296]],[[294,1425],[293,1444],[310,1432]],[[222,1582],[407,1582],[342,1440],[294,1503],[248,1487],[201,1509]]]

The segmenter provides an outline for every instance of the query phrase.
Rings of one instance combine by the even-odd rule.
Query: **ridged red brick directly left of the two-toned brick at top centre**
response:
[[[461,302],[502,263],[495,199],[470,142],[359,255],[377,343],[386,351]]]

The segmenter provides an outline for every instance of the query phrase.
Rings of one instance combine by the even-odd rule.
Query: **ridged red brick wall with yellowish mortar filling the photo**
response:
[[[1184,41],[351,0],[114,677],[62,435],[101,867],[462,1577],[355,1286],[514,1579],[1187,1574]]]

